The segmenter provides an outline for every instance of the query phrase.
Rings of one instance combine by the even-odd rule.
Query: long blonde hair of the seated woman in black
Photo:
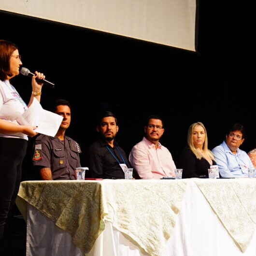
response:
[[[199,153],[199,151],[195,148],[193,140],[192,140],[192,133],[193,130],[196,126],[201,126],[204,129],[204,133],[205,133],[205,140],[203,142],[203,153],[206,156],[209,156],[212,160],[214,160],[214,156],[213,153],[208,149],[208,137],[207,137],[207,132],[206,129],[204,127],[204,125],[201,122],[196,122],[194,124],[192,124],[189,128],[188,128],[188,132],[187,132],[187,144],[189,146],[189,148],[191,149],[191,151],[196,155],[196,157],[198,159],[202,158],[202,155]]]

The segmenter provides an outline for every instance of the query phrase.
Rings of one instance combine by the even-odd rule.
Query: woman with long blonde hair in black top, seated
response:
[[[179,165],[183,169],[183,178],[208,178],[208,169],[216,162],[208,149],[207,132],[202,123],[197,122],[189,127],[187,144]]]

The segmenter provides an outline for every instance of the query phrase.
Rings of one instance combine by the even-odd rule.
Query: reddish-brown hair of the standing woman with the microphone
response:
[[[14,43],[0,40],[0,80],[7,79],[7,75],[10,76],[10,57],[17,46]]]

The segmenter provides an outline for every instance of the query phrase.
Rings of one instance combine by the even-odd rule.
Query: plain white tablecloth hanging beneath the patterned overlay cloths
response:
[[[256,233],[242,253],[194,182],[186,186],[181,211],[163,256],[256,256]],[[105,221],[105,229],[86,256],[144,256],[126,235]],[[82,256],[68,232],[28,204],[27,256]]]

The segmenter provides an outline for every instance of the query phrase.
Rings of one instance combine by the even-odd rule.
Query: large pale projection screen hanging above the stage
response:
[[[195,51],[196,0],[1,0],[0,10]]]

